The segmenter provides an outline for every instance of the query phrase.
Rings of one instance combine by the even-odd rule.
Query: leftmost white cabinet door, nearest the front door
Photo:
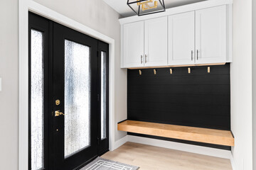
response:
[[[144,66],[144,21],[124,24],[123,63],[125,68]]]

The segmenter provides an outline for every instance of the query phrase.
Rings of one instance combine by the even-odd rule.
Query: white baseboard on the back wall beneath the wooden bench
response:
[[[128,142],[135,142],[140,143],[144,145],[151,145],[155,147],[164,147],[168,149],[176,149],[181,150],[184,152],[192,152],[196,154],[204,154],[211,157],[220,157],[225,159],[230,159],[232,157],[232,154],[228,150],[224,149],[215,149],[211,147],[201,147],[197,145],[188,145],[178,142],[170,142],[166,140],[155,140],[147,137],[138,137],[133,135],[127,135],[127,141]]]

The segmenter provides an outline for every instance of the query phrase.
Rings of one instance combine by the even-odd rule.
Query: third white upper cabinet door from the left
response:
[[[168,64],[195,63],[195,12],[169,16]]]

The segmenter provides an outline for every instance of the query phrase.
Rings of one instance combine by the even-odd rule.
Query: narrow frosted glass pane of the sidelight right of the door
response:
[[[107,57],[107,53],[106,52],[101,52],[101,68],[100,68],[100,72],[101,72],[101,76],[100,76],[100,81],[101,81],[101,139],[104,140],[107,136],[106,136],[106,127],[107,127],[107,111],[106,111],[106,94],[107,94],[107,82],[106,82],[106,75],[107,75],[107,68],[106,68],[106,57]]]

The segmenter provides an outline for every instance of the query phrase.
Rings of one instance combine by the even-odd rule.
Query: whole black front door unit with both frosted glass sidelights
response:
[[[108,45],[33,13],[29,35],[30,169],[79,169],[109,148]]]

